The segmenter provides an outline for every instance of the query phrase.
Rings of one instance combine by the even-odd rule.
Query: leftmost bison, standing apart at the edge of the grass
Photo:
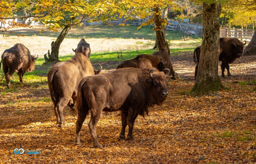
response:
[[[5,80],[7,87],[10,88],[10,76],[16,71],[19,75],[20,82],[22,82],[22,77],[28,72],[35,70],[35,61],[37,57],[30,55],[27,47],[21,43],[15,44],[13,47],[5,50],[1,56],[1,63],[3,62],[3,73],[5,74]]]

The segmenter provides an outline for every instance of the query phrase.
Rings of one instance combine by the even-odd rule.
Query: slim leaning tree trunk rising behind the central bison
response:
[[[159,7],[155,7],[154,8],[154,11],[155,13],[159,13]],[[165,21],[167,21],[167,12],[168,12],[168,8],[165,8],[164,10],[164,19]],[[162,25],[162,22],[161,21],[161,15],[159,14],[155,14],[154,15],[154,19],[155,19],[155,30],[156,30],[156,40],[157,40],[157,45],[158,45],[158,49],[160,50],[161,48],[166,48],[167,51],[168,51],[168,54],[170,56],[170,49],[169,49],[169,45],[167,43],[167,40],[165,38],[165,27],[166,25]],[[170,76],[172,79],[176,79],[178,78],[178,74],[175,73],[173,67],[172,67],[172,61],[171,61],[171,58],[170,58]]]

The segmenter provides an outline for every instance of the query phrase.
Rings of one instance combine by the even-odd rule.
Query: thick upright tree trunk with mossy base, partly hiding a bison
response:
[[[221,5],[218,3],[203,4],[203,38],[198,73],[192,89],[195,95],[216,95],[215,92],[222,87],[218,75],[220,10]]]

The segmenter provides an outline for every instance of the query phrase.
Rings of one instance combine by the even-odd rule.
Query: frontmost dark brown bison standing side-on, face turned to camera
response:
[[[155,71],[154,71],[155,70]],[[167,75],[156,69],[123,68],[110,73],[88,76],[78,86],[75,145],[80,145],[80,130],[88,111],[91,111],[89,130],[93,145],[101,147],[96,125],[102,111],[121,111],[122,130],[119,139],[133,140],[133,125],[138,114],[148,114],[148,107],[162,105],[168,96]]]

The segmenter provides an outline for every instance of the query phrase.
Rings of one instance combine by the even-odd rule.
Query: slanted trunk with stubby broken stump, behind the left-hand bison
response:
[[[65,26],[64,29],[59,34],[56,41],[52,41],[51,43],[51,53],[50,50],[48,50],[48,57],[47,54],[44,54],[44,60],[46,62],[59,62],[59,46],[61,45],[62,41],[64,40],[65,36],[67,35],[67,32],[71,29],[71,26]]]

